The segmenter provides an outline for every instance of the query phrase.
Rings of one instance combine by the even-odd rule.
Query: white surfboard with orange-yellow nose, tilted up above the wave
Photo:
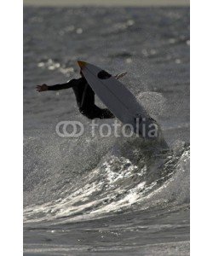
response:
[[[78,61],[78,65],[95,94],[124,125],[131,125],[140,137],[158,137],[157,122],[149,116],[124,84],[100,67],[85,61]]]

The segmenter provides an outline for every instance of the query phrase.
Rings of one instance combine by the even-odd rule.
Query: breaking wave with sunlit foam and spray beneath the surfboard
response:
[[[36,163],[32,159],[37,148],[40,153],[37,168],[32,166],[25,180],[26,222],[79,221],[188,203],[189,148],[184,143],[156,152],[145,147],[141,138],[111,137],[108,145],[100,140],[85,137],[73,143],[65,139],[58,145],[54,137],[27,140],[27,170]],[[28,206],[29,202],[33,205]]]

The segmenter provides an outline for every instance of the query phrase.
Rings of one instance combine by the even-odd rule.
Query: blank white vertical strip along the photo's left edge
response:
[[[21,1],[1,3],[1,255],[23,255]]]

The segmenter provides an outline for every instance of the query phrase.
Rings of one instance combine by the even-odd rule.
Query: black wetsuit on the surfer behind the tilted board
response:
[[[66,84],[55,84],[53,86],[49,86],[48,90],[63,90],[68,88],[72,88],[72,90],[74,90],[79,111],[80,113],[83,113],[83,115],[85,115],[87,118],[114,118],[114,115],[109,111],[109,109],[101,109],[95,105],[95,92],[84,78],[72,79]]]

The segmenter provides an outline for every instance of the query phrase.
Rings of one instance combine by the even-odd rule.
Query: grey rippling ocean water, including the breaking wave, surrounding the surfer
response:
[[[186,7],[24,8],[25,255],[189,255],[189,44]],[[72,90],[37,93],[77,60],[127,71],[170,149],[93,137]],[[64,120],[83,136],[59,137]]]

